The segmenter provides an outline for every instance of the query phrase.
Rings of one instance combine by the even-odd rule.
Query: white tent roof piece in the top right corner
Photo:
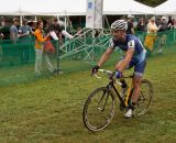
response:
[[[176,0],[167,0],[166,2],[154,8],[155,14],[174,14],[176,15]]]

